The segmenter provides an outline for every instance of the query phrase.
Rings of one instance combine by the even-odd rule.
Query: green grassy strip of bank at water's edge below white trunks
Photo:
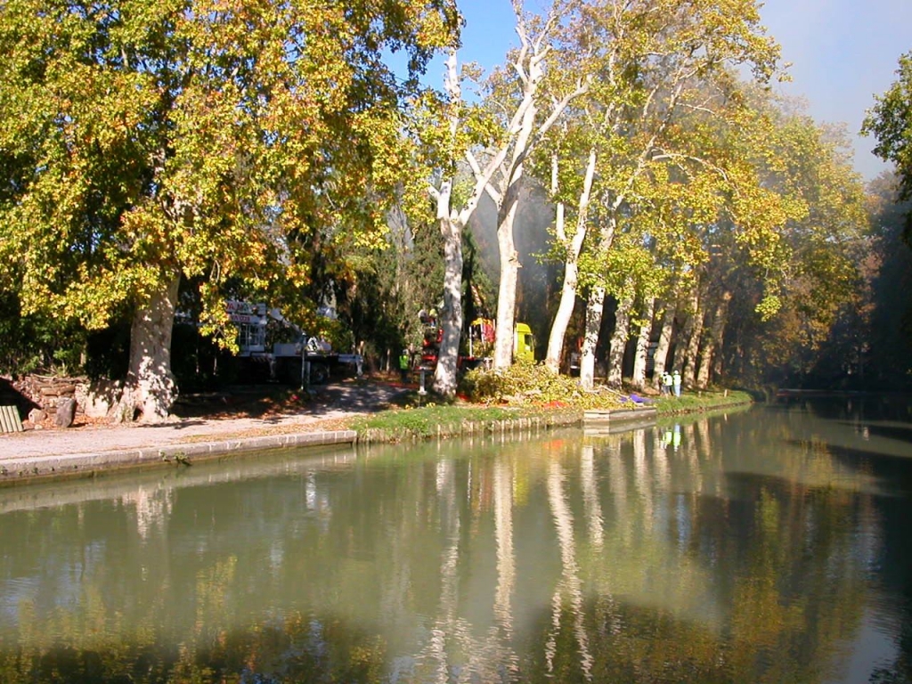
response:
[[[409,441],[458,437],[484,432],[542,430],[557,426],[581,425],[586,403],[549,401],[503,406],[455,404],[416,404],[389,409],[347,421],[346,427],[358,431],[359,441]],[[679,415],[751,403],[746,392],[702,392],[680,398],[654,399],[659,416]],[[629,408],[619,402],[617,408]]]

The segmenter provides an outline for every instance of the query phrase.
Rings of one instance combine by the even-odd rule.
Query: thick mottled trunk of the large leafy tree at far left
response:
[[[162,422],[176,398],[171,375],[171,330],[180,275],[137,308],[130,328],[130,369],[120,405],[119,420]]]

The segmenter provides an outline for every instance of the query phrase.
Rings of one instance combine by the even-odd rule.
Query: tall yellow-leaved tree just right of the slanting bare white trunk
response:
[[[675,147],[680,140],[673,135],[676,117],[682,111],[721,117],[735,109],[730,97],[735,80],[731,67],[751,67],[755,78],[768,80],[778,47],[765,35],[751,0],[598,0],[586,5],[585,22],[570,26],[573,34],[565,46],[576,52],[586,46],[587,64],[592,65],[591,72],[586,72],[591,74],[586,95],[575,98],[572,106],[585,103],[580,109],[586,108],[600,139],[594,136],[597,147],[588,150],[590,160],[591,153],[596,153],[591,193],[600,206],[598,231],[590,241],[578,241],[588,244],[586,249],[591,252],[580,373],[582,384],[589,387],[606,285],[617,282],[613,275],[606,276],[607,254],[621,230],[620,223],[636,211],[631,208],[640,201],[638,189],[654,192],[669,178],[669,165],[687,167],[688,171],[682,171],[685,175],[692,175],[700,166],[702,173],[709,166],[701,164],[700,150]],[[564,68],[568,70],[566,62]],[[581,159],[585,157],[581,155]],[[578,168],[586,166],[577,163]],[[579,223],[575,226],[577,235],[581,229],[588,230],[585,222],[582,228]],[[567,253],[571,259],[574,252],[575,247]],[[572,288],[565,296],[570,292]],[[561,337],[557,333],[555,344]],[[549,358],[553,356],[555,349],[549,352]]]

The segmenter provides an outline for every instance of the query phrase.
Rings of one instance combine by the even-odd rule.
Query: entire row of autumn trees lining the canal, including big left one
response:
[[[862,368],[871,207],[845,133],[767,88],[783,75],[754,0],[513,9],[519,47],[482,78],[445,0],[5,3],[0,306],[22,344],[4,365],[26,337],[66,353],[130,321],[119,410],[158,420],[178,308],[230,347],[226,298],[308,325],[332,295],[381,351],[442,291],[434,385],[451,394],[484,285],[466,227],[492,206],[496,368],[530,243],[553,276],[544,362],[557,372],[578,338],[586,387],[603,358],[608,382],[643,385],[650,348],[698,387],[807,375],[843,349],[838,322]],[[421,87],[441,51],[442,89]],[[903,92],[873,110],[878,139],[903,102],[908,119]],[[518,218],[531,205],[548,235]]]

